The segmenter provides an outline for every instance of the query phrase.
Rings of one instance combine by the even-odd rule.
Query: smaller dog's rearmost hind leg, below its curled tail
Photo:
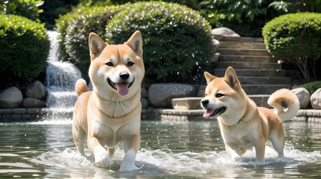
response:
[[[283,157],[284,142],[285,142],[283,127],[282,127],[282,130],[272,130],[269,134],[269,139],[272,143],[274,150],[276,150],[276,152],[279,154],[279,157]]]

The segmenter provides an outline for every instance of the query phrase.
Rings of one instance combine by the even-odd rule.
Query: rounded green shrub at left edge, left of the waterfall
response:
[[[46,67],[50,43],[44,24],[0,15],[0,86],[25,85]]]

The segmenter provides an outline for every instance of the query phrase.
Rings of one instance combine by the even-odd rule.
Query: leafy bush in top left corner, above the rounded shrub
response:
[[[43,10],[39,9],[39,6],[43,2],[42,0],[0,0],[0,12],[21,15],[40,22],[39,13],[42,13]]]

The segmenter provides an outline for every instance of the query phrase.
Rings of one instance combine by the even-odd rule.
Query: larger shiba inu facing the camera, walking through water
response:
[[[89,35],[93,91],[85,80],[77,81],[73,136],[82,155],[87,136],[88,148],[99,167],[113,164],[115,147],[122,141],[125,156],[119,171],[138,169],[135,157],[140,146],[140,91],[145,72],[142,43],[139,31],[120,45],[109,45],[95,33]]]

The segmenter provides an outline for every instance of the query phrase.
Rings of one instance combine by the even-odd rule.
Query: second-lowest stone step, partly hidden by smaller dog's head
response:
[[[290,89],[291,85],[241,85],[247,95],[249,94],[272,94],[278,89]],[[198,96],[204,96],[206,85],[199,87]]]

